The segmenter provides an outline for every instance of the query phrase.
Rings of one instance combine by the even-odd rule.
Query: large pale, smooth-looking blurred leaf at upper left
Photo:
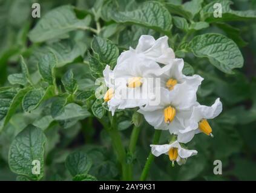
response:
[[[78,19],[74,12],[74,7],[64,5],[45,14],[30,31],[28,36],[32,42],[44,42],[73,30],[87,30],[90,22],[90,16],[84,19]]]

